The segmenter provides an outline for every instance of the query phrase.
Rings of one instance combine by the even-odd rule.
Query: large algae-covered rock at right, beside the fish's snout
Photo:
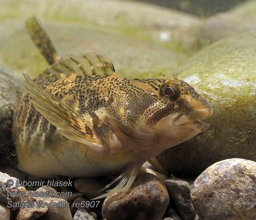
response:
[[[256,31],[220,40],[178,69],[212,106],[211,127],[158,157],[172,173],[196,176],[227,158],[256,161]]]

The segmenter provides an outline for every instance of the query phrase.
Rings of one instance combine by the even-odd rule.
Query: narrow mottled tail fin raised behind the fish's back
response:
[[[46,34],[46,31],[38,23],[33,16],[26,20],[26,30],[37,48],[40,49],[46,61],[51,65],[61,59],[53,46],[51,39]]]

